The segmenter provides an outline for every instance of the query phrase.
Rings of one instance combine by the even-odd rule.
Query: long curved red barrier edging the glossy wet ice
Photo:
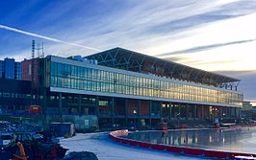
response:
[[[229,151],[218,151],[218,150],[207,150],[207,149],[192,149],[192,148],[183,148],[183,147],[175,147],[175,146],[166,146],[161,144],[151,144],[147,142],[141,142],[136,140],[129,140],[119,136],[128,135],[128,130],[115,130],[109,134],[109,137],[115,142],[127,144],[131,146],[136,146],[145,149],[158,149],[158,150],[166,150],[174,153],[184,153],[195,156],[205,156],[210,158],[218,158],[218,159],[235,159],[236,156],[244,156],[244,157],[252,157],[255,158],[256,154],[251,153],[241,153],[241,152],[229,152]]]

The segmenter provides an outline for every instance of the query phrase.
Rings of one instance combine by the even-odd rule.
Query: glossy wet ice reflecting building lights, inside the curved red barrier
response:
[[[128,137],[126,138],[171,146],[250,152],[250,150],[244,150],[245,148],[243,148],[243,140],[252,138],[252,136],[256,133],[256,130],[169,130],[163,137],[162,133],[162,131],[132,132],[129,133]]]

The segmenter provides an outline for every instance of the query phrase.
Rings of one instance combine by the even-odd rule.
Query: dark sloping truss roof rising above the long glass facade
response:
[[[114,48],[87,58],[96,59],[99,65],[140,72],[174,80],[213,85],[220,88],[237,90],[239,79],[207,72],[190,66],[150,57],[137,52]]]

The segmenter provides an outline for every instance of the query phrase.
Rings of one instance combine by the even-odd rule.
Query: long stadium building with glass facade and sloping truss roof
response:
[[[38,103],[46,116],[91,115],[100,127],[241,117],[238,79],[121,48],[37,60],[43,74],[36,80],[43,85]]]

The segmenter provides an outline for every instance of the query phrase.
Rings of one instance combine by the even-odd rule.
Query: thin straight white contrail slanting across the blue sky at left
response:
[[[63,40],[59,40],[59,39],[56,39],[56,38],[52,38],[52,37],[48,37],[48,36],[44,36],[44,35],[40,35],[40,34],[33,34],[33,33],[25,32],[25,31],[14,29],[12,27],[4,26],[4,25],[1,25],[1,24],[0,24],[0,29],[13,31],[13,32],[19,33],[19,34],[26,34],[26,35],[30,35],[30,36],[35,36],[35,37],[39,37],[39,38],[42,38],[42,39],[46,39],[46,40],[50,40],[50,41],[54,41],[54,42],[59,42],[59,43],[67,44],[67,45],[72,45],[72,46],[76,46],[76,47],[81,47],[81,48],[85,48],[85,49],[89,49],[89,50],[93,50],[93,51],[101,51],[101,50],[96,49],[96,48],[91,48],[91,47],[87,47],[87,46],[83,46],[83,45],[79,45],[79,44],[75,44],[75,43],[70,43],[70,42],[66,42],[66,41],[63,41]]]

